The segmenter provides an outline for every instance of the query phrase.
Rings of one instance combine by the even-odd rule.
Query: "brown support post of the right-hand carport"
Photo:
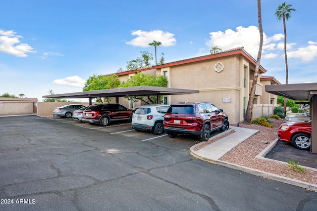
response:
[[[314,105],[315,104],[315,105]],[[312,119],[312,134],[311,134],[311,153],[317,153],[317,96],[314,95],[310,102],[310,113]]]

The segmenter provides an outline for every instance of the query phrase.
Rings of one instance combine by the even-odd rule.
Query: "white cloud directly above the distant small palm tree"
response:
[[[151,32],[146,32],[142,30],[133,31],[131,33],[133,36],[137,36],[137,38],[125,42],[126,44],[139,46],[139,47],[148,47],[149,43],[153,41],[159,41],[162,43],[161,46],[168,47],[176,44],[176,39],[174,38],[174,34],[169,32],[163,32],[161,30],[154,30]]]

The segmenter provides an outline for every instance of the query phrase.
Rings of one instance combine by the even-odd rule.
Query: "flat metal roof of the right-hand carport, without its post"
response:
[[[265,91],[292,100],[310,101],[317,95],[317,83],[265,85]]]

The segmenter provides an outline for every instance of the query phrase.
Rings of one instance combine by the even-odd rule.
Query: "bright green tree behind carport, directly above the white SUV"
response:
[[[126,82],[122,83],[120,87],[131,87],[131,86],[140,86],[140,85],[149,85],[149,86],[160,86],[167,87],[167,79],[164,76],[151,76],[149,74],[136,73],[133,77],[127,79]],[[136,97],[125,97],[128,100],[133,100],[134,102],[143,101],[147,103],[144,96],[136,96]],[[156,96],[147,96],[147,100],[149,100],[152,104],[157,102]]]

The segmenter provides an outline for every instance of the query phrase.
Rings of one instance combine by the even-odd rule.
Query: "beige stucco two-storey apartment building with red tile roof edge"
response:
[[[231,124],[244,119],[248,105],[256,60],[243,47],[237,47],[219,53],[169,62],[151,67],[116,73],[120,81],[126,81],[137,72],[149,75],[163,75],[167,78],[167,87],[198,89],[199,93],[184,95],[166,95],[164,104],[175,102],[208,101],[222,108]],[[280,84],[274,77],[263,76],[266,70],[260,66],[256,97],[254,99],[253,118],[273,114],[277,106],[277,95],[265,92],[265,84]],[[120,99],[120,103],[129,103],[129,108],[140,105]]]

